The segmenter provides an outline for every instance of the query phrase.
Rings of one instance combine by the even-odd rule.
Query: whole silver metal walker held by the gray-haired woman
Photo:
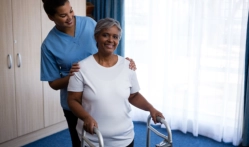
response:
[[[146,140],[146,147],[150,147],[150,132],[153,131],[156,135],[162,137],[164,140],[162,142],[160,142],[159,144],[156,144],[156,147],[173,147],[173,141],[172,141],[172,133],[171,133],[171,129],[168,126],[168,124],[166,123],[166,121],[161,118],[161,117],[157,117],[157,121],[160,122],[161,124],[164,124],[166,127],[166,131],[168,136],[158,132],[155,128],[153,128],[150,125],[150,121],[151,121],[151,116],[148,116],[147,119],[147,140]],[[94,127],[94,133],[97,134],[98,139],[99,139],[99,147],[104,147],[104,140],[103,140],[103,136],[101,134],[101,132],[98,130],[98,128]],[[88,138],[85,137],[85,130],[84,128],[82,128],[82,142],[81,142],[81,147],[85,147],[85,142],[90,146],[90,147],[95,147],[91,141],[88,140]]]

